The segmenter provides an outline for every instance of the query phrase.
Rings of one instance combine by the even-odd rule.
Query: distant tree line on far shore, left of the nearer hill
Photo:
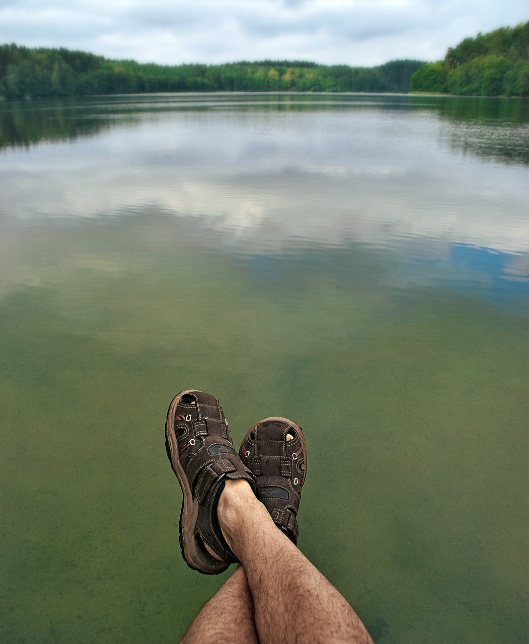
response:
[[[114,61],[64,48],[0,45],[0,96],[8,99],[180,91],[407,92],[423,61],[377,67],[305,61],[175,66]]]

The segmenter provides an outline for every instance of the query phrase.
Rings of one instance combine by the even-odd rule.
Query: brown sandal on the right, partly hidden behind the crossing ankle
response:
[[[287,440],[287,434],[293,440]],[[255,475],[256,497],[274,524],[297,544],[296,515],[307,473],[307,450],[301,428],[278,416],[260,421],[245,435],[239,456]]]

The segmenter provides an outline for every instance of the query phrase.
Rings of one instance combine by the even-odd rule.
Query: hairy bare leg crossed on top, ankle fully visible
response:
[[[349,603],[278,530],[246,481],[226,481],[217,515],[244,566],[261,644],[373,644]]]

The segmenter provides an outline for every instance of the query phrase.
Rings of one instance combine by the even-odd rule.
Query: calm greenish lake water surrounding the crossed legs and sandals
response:
[[[174,643],[171,398],[307,438],[300,548],[383,644],[526,643],[529,102],[0,103],[0,641]]]

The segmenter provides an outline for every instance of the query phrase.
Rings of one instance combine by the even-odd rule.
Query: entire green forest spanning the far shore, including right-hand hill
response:
[[[0,45],[0,97],[24,99],[182,91],[363,91],[529,96],[529,21],[478,33],[443,61],[376,67],[307,61],[142,64],[64,48]]]

